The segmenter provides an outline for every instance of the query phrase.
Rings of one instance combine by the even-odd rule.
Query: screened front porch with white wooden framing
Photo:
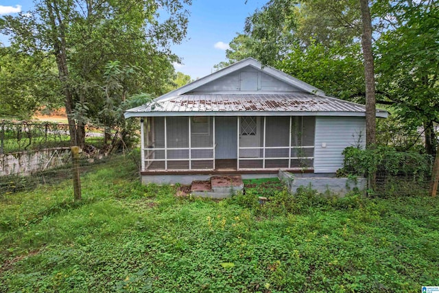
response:
[[[143,172],[312,169],[315,117],[145,117]]]

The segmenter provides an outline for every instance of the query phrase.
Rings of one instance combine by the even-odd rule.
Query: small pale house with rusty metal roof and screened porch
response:
[[[365,113],[247,58],[125,117],[141,119],[143,182],[187,183],[211,174],[276,176],[279,169],[334,174],[344,148],[364,146]]]

